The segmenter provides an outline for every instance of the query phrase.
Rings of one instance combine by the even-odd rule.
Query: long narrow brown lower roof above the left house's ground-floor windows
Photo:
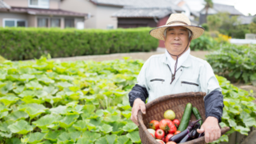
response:
[[[66,16],[86,16],[87,14],[76,13],[67,10],[53,10],[53,9],[38,9],[28,7],[11,7],[10,12],[27,13],[27,14],[53,14],[53,15],[66,15]]]

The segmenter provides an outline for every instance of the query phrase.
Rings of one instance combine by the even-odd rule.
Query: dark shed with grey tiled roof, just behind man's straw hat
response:
[[[140,0],[131,6],[124,6],[112,14],[118,18],[119,28],[130,27],[158,27],[166,24],[170,14],[182,13],[184,10],[174,5],[171,0]],[[165,47],[164,41],[159,40],[159,47]]]

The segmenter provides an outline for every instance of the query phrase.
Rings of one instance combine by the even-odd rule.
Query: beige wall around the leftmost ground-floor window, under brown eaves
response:
[[[3,26],[3,18],[26,20],[27,25],[28,25],[28,17],[27,17],[27,14],[15,14],[15,13],[5,13],[5,12],[1,12],[1,14],[0,14],[0,26]]]

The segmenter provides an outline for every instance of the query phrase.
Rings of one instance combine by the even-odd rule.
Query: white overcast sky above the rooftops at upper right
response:
[[[185,0],[191,10],[202,10],[204,0]],[[256,14],[256,0],[212,0],[214,3],[234,6],[242,14]]]

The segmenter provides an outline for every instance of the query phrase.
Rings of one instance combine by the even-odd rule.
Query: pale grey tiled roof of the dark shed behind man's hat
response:
[[[125,6],[118,10],[113,17],[118,18],[163,18],[167,14],[184,11],[182,8],[174,5],[170,0],[137,0],[133,5]]]

